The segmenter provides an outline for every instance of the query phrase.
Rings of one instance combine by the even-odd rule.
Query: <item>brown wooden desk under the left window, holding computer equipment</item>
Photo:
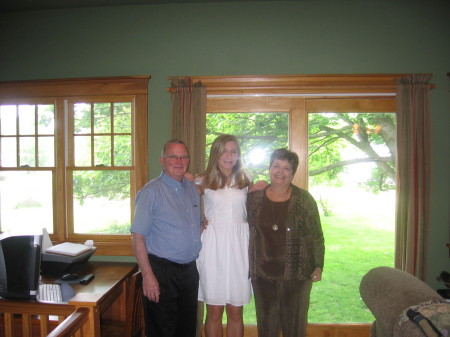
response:
[[[100,337],[100,318],[125,320],[126,297],[131,276],[138,269],[136,263],[128,262],[89,262],[80,270],[80,275],[94,274],[95,278],[87,285],[71,284],[75,291],[67,304],[44,304],[37,301],[0,300],[5,310],[17,308],[32,302],[34,305],[55,306],[57,311],[72,312],[78,307],[89,309],[88,336]],[[42,277],[43,282],[53,282],[54,278]],[[0,310],[1,311],[1,310]]]

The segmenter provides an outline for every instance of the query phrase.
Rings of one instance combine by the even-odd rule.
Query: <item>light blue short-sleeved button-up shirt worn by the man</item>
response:
[[[145,236],[150,254],[176,263],[198,257],[200,195],[193,183],[169,177],[164,171],[137,194],[131,232]]]

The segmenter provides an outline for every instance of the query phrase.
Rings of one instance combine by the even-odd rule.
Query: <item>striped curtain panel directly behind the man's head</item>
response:
[[[205,169],[206,87],[192,79],[170,78],[171,138],[183,140],[189,148],[189,172]]]

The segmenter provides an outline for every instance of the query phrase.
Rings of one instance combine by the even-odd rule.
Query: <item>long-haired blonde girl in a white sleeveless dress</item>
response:
[[[208,167],[196,182],[203,193],[208,222],[197,260],[199,301],[205,302],[207,309],[205,333],[207,337],[222,336],[226,307],[227,336],[243,336],[243,306],[252,296],[246,211],[247,192],[252,183],[244,172],[241,150],[234,136],[221,135],[213,142]],[[267,183],[258,185],[264,188]]]

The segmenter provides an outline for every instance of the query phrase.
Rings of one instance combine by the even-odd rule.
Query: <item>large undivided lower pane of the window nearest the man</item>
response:
[[[73,197],[75,233],[130,233],[129,171],[74,171]]]

